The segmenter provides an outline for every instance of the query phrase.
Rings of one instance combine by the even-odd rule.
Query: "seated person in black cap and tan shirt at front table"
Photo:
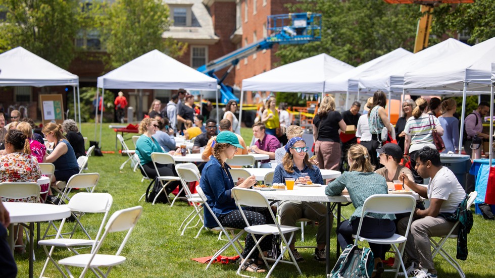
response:
[[[375,173],[380,176],[385,177],[387,182],[399,180],[399,176],[404,173],[413,176],[413,173],[409,168],[400,165],[401,159],[403,158],[402,149],[397,144],[388,143],[383,145],[381,149],[377,149],[378,159],[380,164],[384,167],[375,171]],[[393,185],[388,184],[389,188],[393,188]]]

